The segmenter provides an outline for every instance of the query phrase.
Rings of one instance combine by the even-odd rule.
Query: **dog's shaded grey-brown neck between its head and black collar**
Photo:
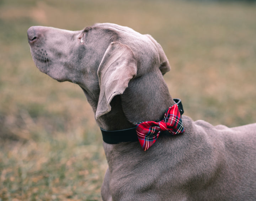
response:
[[[96,119],[98,126],[108,131],[122,130],[132,128],[142,121],[156,121],[163,117],[166,109],[175,102],[162,75],[151,79],[150,82],[145,82],[143,79],[150,78],[130,81],[124,93],[112,99],[111,111]],[[142,83],[149,84],[144,86]],[[86,92],[85,95],[96,112],[97,101]]]

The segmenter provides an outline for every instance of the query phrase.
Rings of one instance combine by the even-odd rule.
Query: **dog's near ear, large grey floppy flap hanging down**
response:
[[[137,62],[132,50],[119,42],[112,42],[98,68],[100,96],[96,119],[111,110],[110,102],[128,87],[130,79],[137,74]]]

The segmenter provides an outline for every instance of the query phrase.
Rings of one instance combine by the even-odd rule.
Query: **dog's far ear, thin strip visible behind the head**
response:
[[[159,58],[160,58],[160,66],[159,69],[162,73],[162,75],[164,75],[165,73],[167,73],[168,71],[171,70],[169,61],[164,53],[164,50],[162,49],[161,45],[156,42],[156,40],[149,34],[145,34],[146,36],[148,36],[148,38],[154,43],[154,45],[156,46],[158,53],[159,53]]]

